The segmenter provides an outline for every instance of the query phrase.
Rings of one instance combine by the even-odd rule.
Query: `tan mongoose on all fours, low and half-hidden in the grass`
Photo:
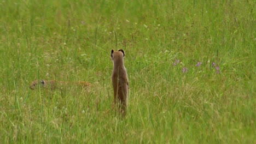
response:
[[[55,89],[57,88],[57,86],[59,85],[63,85],[63,84],[74,84],[74,85],[81,85],[82,87],[88,87],[91,85],[90,82],[86,82],[86,81],[77,81],[77,82],[69,82],[69,81],[56,81],[56,80],[49,80],[49,81],[45,81],[45,80],[35,80],[33,82],[31,82],[30,85],[30,89],[36,89],[37,85],[45,87],[45,88],[50,88],[50,89]]]

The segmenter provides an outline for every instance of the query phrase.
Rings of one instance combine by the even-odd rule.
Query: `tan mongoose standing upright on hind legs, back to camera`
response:
[[[113,61],[112,83],[114,89],[114,105],[118,104],[121,113],[125,116],[128,105],[129,81],[124,65],[124,50],[111,51]]]

